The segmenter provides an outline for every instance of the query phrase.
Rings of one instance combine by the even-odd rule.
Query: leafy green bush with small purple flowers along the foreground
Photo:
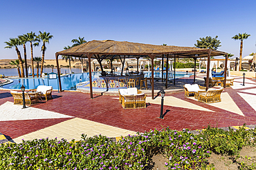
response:
[[[162,152],[168,169],[201,169],[206,167],[203,138],[188,129],[169,128],[145,131],[112,142],[106,136],[67,142],[35,139],[19,144],[1,145],[0,169],[144,169],[150,157]]]

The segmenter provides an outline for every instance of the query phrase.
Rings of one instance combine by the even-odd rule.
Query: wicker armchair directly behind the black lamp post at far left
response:
[[[13,96],[14,105],[23,105],[22,92],[10,91],[10,94],[12,94]],[[39,100],[38,93],[24,92],[24,96],[25,96],[25,105],[33,105],[35,103],[38,103],[38,100]]]

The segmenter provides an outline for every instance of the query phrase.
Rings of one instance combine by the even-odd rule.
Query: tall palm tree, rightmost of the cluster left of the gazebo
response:
[[[42,51],[42,65],[41,65],[41,76],[43,73],[43,69],[44,69],[44,54],[46,52],[46,43],[49,43],[49,40],[53,38],[53,35],[50,34],[50,32],[41,32],[39,31],[39,35],[38,35],[39,41],[43,41],[43,45],[41,48]]]

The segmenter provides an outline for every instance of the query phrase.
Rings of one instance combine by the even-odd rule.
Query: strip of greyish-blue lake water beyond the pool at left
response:
[[[39,74],[40,74],[40,70],[39,69]],[[24,70],[25,71],[25,70]],[[66,67],[66,68],[61,68],[60,71],[62,73],[69,73],[69,68]],[[71,68],[71,72],[74,72],[74,73],[81,73],[81,68]],[[34,72],[35,74],[37,74],[37,68],[34,68]],[[46,73],[50,73],[52,72],[52,68],[44,68],[44,72]],[[53,69],[53,72],[57,73],[57,69]],[[24,72],[25,73],[25,72]],[[18,76],[18,70],[17,68],[5,68],[5,69],[0,69],[0,74],[4,74],[5,76]],[[25,73],[26,74],[26,73]]]

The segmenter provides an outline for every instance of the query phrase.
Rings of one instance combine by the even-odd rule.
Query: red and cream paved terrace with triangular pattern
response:
[[[198,74],[201,83],[204,74]],[[53,92],[53,100],[40,102],[21,109],[13,105],[9,91],[0,91],[0,133],[15,142],[33,138],[66,138],[80,140],[87,136],[103,134],[108,137],[127,136],[136,131],[183,128],[202,129],[209,124],[216,127],[255,125],[256,81],[234,76],[232,87],[221,94],[221,103],[205,104],[185,97],[184,92],[165,96],[164,119],[160,119],[161,97],[147,97],[146,109],[122,109],[118,96],[90,95],[81,92]],[[181,80],[183,81],[183,80]],[[178,82],[181,82],[178,81]],[[191,78],[188,80],[191,81]],[[179,83],[178,83],[179,84]]]

